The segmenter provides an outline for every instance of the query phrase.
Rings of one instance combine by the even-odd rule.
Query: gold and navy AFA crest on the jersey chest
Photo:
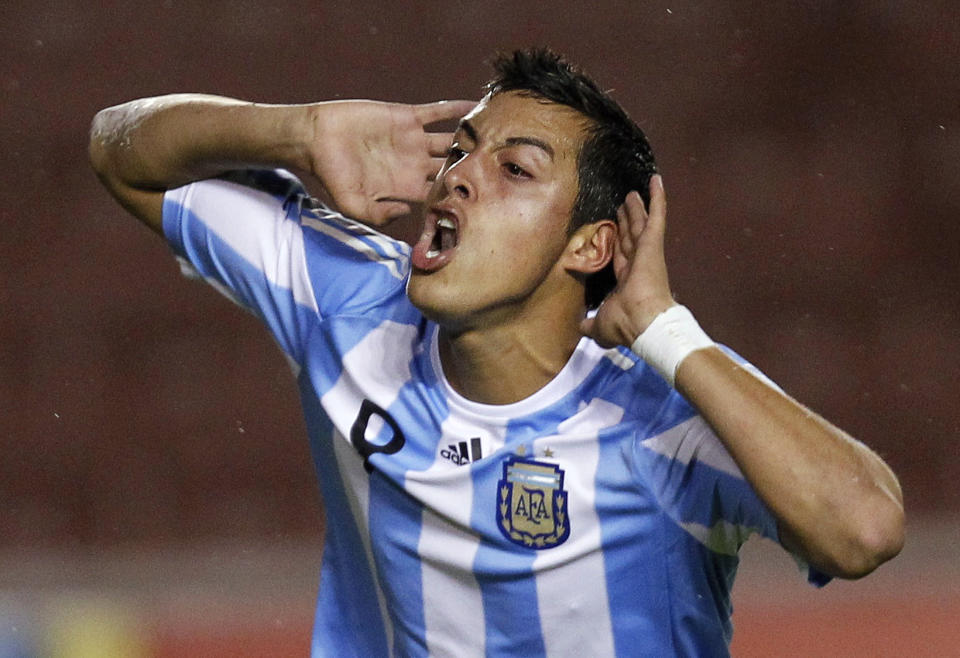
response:
[[[559,466],[524,457],[503,463],[497,483],[497,526],[518,546],[559,546],[570,536],[567,492]]]

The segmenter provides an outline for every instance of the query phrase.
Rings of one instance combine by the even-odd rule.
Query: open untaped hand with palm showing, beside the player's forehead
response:
[[[403,105],[334,101],[316,105],[313,173],[335,208],[380,226],[413,213],[446,158],[453,134],[427,132],[459,119],[474,101]]]

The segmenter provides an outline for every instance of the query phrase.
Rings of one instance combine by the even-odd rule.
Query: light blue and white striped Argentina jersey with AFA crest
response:
[[[326,510],[315,656],[727,655],[774,518],[696,411],[583,338],[514,404],[443,375],[410,248],[283,171],[168,191],[176,254],[295,364]]]

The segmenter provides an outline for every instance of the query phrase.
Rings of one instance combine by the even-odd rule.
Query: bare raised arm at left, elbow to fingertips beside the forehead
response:
[[[383,225],[424,198],[442,164],[451,135],[426,127],[457,119],[472,106],[147,98],[96,115],[90,161],[117,200],[158,233],[165,190],[250,167],[311,172],[338,210]]]

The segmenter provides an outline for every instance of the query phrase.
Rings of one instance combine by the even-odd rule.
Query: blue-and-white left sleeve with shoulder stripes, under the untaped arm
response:
[[[313,327],[401,296],[410,247],[311,198],[283,170],[169,190],[163,231],[188,273],[258,315],[298,364]]]

